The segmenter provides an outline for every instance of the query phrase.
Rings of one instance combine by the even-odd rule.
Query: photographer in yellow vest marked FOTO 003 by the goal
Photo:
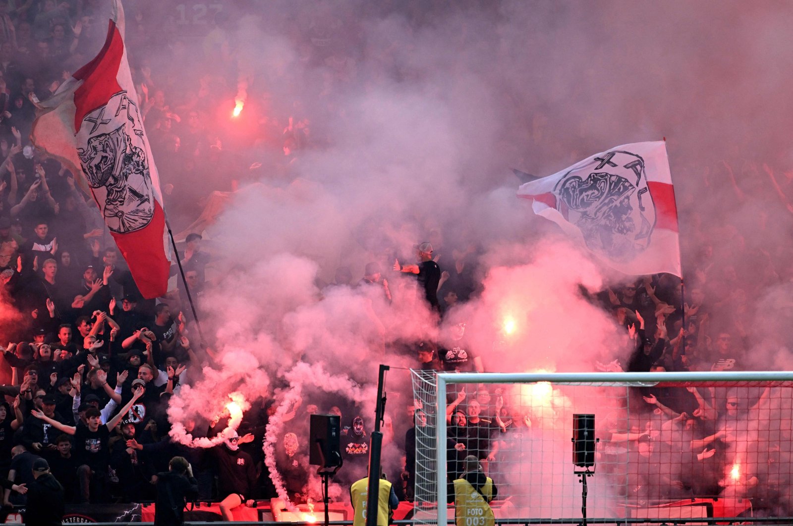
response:
[[[466,456],[462,462],[464,471],[454,481],[454,490],[448,491],[449,501],[454,498],[454,520],[457,526],[494,526],[496,517],[490,501],[498,495],[496,485],[482,473],[475,455]]]

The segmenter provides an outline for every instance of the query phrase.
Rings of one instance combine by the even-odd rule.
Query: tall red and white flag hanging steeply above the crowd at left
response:
[[[39,104],[31,140],[86,178],[140,293],[151,299],[167,292],[172,257],[124,29],[113,0],[102,51]]]

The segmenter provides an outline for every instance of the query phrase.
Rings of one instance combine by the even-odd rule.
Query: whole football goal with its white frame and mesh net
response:
[[[793,372],[413,371],[412,383],[416,524],[454,520],[470,455],[497,520],[793,516]]]

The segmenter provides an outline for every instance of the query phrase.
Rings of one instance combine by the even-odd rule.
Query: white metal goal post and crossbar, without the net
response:
[[[793,382],[793,372],[439,372],[437,375],[436,414],[446,414],[446,385],[449,383],[538,383],[611,384],[615,386],[653,387],[661,382]],[[446,419],[437,418],[435,462],[437,466],[438,524],[449,524],[446,509]]]

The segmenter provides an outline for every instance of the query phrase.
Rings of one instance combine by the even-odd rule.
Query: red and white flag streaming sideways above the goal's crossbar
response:
[[[518,196],[626,274],[680,272],[666,143],[623,144],[521,185]]]

